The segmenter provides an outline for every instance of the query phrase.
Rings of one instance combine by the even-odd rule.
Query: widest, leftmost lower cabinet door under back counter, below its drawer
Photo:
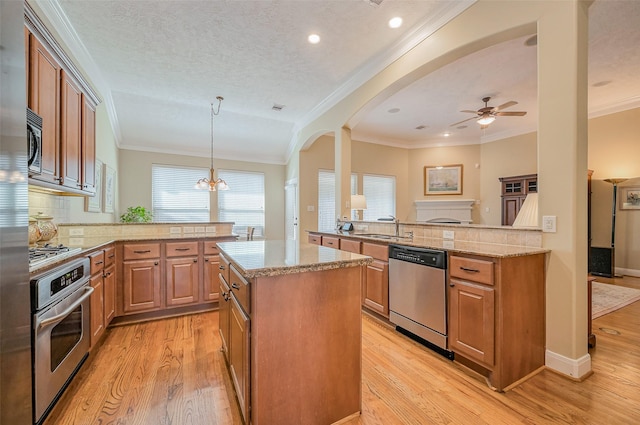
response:
[[[125,261],[123,274],[125,313],[139,313],[160,308],[158,260]]]

